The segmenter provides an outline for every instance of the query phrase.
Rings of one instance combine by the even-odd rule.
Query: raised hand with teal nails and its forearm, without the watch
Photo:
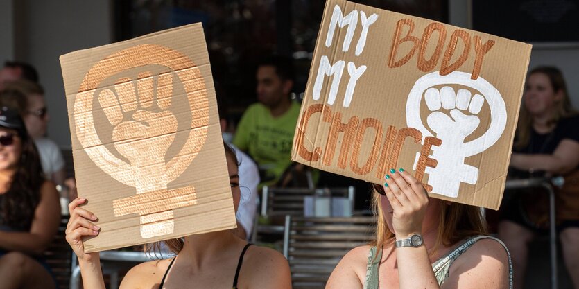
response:
[[[414,233],[422,234],[422,221],[429,203],[422,184],[404,170],[391,170],[386,184],[384,191],[394,210],[392,227],[396,240],[407,239]],[[398,247],[395,252],[400,289],[440,289],[424,243],[420,247]]]

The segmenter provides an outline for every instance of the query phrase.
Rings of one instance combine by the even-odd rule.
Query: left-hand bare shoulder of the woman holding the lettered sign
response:
[[[331,272],[326,288],[362,288],[372,246],[351,249]]]

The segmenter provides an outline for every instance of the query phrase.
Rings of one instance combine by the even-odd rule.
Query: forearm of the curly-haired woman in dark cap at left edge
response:
[[[51,239],[40,234],[19,231],[0,231],[0,248],[6,251],[42,254]]]

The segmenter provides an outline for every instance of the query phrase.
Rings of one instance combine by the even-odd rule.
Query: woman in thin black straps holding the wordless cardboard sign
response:
[[[235,152],[225,145],[227,170],[237,209],[239,189]],[[79,207],[87,200],[77,198],[69,204],[71,218],[67,241],[78,256],[85,289],[105,288],[98,253],[85,253],[82,237],[96,236],[100,228],[91,212]],[[164,241],[177,254],[174,258],[150,261],[132,268],[122,288],[291,288],[288,262],[273,249],[251,246],[231,230],[186,236]]]

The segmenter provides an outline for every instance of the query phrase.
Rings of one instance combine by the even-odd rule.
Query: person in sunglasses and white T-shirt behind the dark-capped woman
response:
[[[34,139],[34,143],[40,154],[42,170],[44,175],[55,184],[64,184],[67,177],[64,168],[64,157],[58,145],[46,137],[46,125],[48,125],[49,114],[44,102],[44,89],[35,82],[18,80],[7,82],[4,86],[0,103],[10,107],[17,107],[21,113],[28,134]],[[20,94],[14,91],[19,91]],[[24,101],[17,99],[24,95]]]

